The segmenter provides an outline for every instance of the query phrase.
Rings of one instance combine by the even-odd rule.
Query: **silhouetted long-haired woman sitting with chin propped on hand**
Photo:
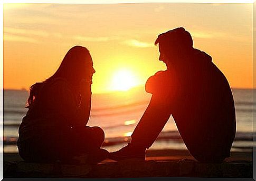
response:
[[[88,49],[74,46],[50,78],[30,87],[29,110],[22,119],[17,142],[24,160],[75,162],[86,154],[86,162],[97,163],[107,157],[108,152],[100,149],[105,139],[103,130],[86,126],[94,73]]]

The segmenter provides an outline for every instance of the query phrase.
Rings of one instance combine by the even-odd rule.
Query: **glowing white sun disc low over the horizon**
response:
[[[117,71],[112,79],[112,90],[128,90],[138,84],[135,75],[127,69]]]

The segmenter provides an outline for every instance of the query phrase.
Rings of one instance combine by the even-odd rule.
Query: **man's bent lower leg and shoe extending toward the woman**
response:
[[[145,159],[146,148],[149,148],[155,142],[169,116],[169,108],[159,101],[158,97],[152,96],[145,113],[131,135],[131,142],[117,152],[111,153],[110,158],[114,160]]]

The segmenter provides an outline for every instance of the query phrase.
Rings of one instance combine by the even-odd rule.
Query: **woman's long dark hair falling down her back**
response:
[[[69,49],[63,58],[58,70],[43,82],[35,83],[30,87],[29,98],[27,99],[26,108],[30,108],[36,97],[40,95],[43,85],[55,78],[63,78],[74,87],[77,87],[81,79],[84,77],[85,63],[89,51],[86,47],[74,46]]]

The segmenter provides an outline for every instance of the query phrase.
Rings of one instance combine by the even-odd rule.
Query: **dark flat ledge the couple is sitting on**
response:
[[[243,177],[252,178],[251,161],[202,164],[194,160],[147,160],[87,164],[4,162],[4,177],[131,178]]]

